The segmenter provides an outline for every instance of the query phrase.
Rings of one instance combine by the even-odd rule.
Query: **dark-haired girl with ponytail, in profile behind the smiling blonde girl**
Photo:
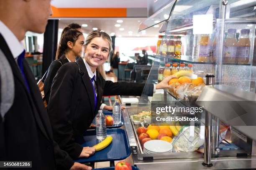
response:
[[[57,48],[56,60],[51,63],[44,81],[44,92],[47,104],[49,104],[51,85],[57,71],[62,65],[67,62],[74,62],[76,57],[81,55],[83,44],[84,35],[82,32],[70,27],[64,28]]]

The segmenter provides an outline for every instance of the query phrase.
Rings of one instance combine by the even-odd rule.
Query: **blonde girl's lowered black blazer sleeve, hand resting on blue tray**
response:
[[[48,105],[54,140],[73,159],[77,159],[83,149],[75,142],[70,112],[72,91],[78,74],[78,67],[74,62],[69,62],[59,69],[52,83]]]

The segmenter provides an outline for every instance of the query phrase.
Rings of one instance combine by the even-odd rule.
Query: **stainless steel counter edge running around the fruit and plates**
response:
[[[256,168],[256,156],[248,158],[212,158],[212,167],[205,167],[202,165],[203,158],[193,159],[170,159],[168,157],[163,159],[145,161],[138,159],[138,144],[136,135],[134,134],[132,121],[129,116],[129,111],[138,109],[137,105],[125,106],[126,109],[123,111],[123,117],[125,121],[125,129],[128,135],[130,143],[133,163],[140,170],[213,170],[213,169],[244,169],[244,168]],[[138,151],[138,152],[137,152]],[[188,154],[188,153],[186,153]]]

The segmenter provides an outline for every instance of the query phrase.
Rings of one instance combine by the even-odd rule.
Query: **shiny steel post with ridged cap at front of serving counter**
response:
[[[213,85],[213,74],[207,74],[206,85]],[[212,116],[210,112],[205,112],[205,152],[204,152],[204,162],[202,165],[211,167],[211,138],[212,138]]]

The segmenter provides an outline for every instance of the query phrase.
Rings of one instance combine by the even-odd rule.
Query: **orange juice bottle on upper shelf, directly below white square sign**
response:
[[[211,53],[210,37],[209,35],[202,35],[199,42],[199,51],[197,61],[209,62]]]

